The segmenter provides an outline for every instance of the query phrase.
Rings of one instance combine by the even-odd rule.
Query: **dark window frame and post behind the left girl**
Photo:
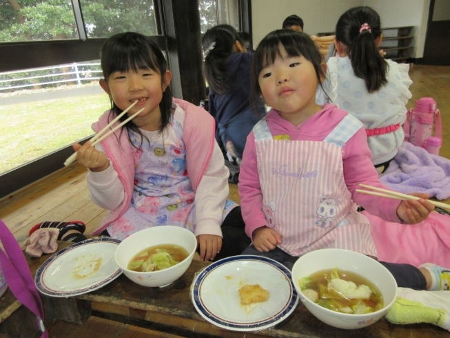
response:
[[[80,6],[79,0],[72,0],[76,25],[80,29],[79,26],[83,21],[81,12],[77,14],[77,5]],[[167,53],[167,61],[173,74],[171,83],[173,95],[198,105],[205,99],[198,1],[154,0],[154,10],[158,35],[152,36],[151,39]],[[250,36],[252,36],[251,12],[251,0],[241,0],[239,13],[241,27]],[[186,17],[190,20],[186,20]],[[84,25],[82,28],[84,30]],[[83,33],[79,36],[83,37]],[[105,40],[85,38],[0,43],[2,59],[0,72],[99,59],[99,51]],[[37,57],[32,57],[33,55]],[[80,140],[80,143],[88,139],[90,137]],[[4,172],[0,175],[0,198],[64,168],[63,163],[72,152],[72,147],[67,146]]]

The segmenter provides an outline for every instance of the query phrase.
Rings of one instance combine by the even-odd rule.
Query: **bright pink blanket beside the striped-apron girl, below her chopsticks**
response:
[[[378,259],[420,266],[433,263],[450,269],[450,217],[431,212],[421,223],[390,223],[363,211],[372,225]]]

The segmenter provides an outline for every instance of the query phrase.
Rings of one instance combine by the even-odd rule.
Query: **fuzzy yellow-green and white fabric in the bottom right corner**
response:
[[[429,323],[450,331],[450,292],[398,288],[386,318],[393,324]]]

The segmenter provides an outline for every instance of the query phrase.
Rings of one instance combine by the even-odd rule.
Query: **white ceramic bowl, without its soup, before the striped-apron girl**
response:
[[[298,285],[298,280],[308,277],[314,272],[330,268],[356,272],[358,275],[371,281],[382,293],[384,307],[376,312],[353,315],[328,310],[305,297]],[[397,283],[391,272],[375,259],[349,250],[322,249],[308,252],[294,264],[292,279],[298,292],[298,297],[303,301],[306,308],[315,317],[336,328],[355,329],[374,324],[386,314],[397,298]]]

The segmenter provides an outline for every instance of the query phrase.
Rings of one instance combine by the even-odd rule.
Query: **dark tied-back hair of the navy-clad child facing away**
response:
[[[238,32],[229,25],[214,26],[203,35],[202,46],[205,53],[203,72],[209,88],[220,95],[228,92],[234,85],[234,83],[229,83],[230,74],[227,66],[228,57],[233,54],[233,46],[236,41],[245,46]],[[215,43],[214,48],[208,50],[212,43]]]

